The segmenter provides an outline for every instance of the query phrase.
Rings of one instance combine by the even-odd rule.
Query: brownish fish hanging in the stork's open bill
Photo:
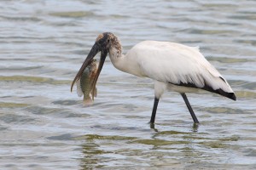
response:
[[[94,78],[96,77],[96,71],[98,70],[98,63],[96,59],[92,59],[90,65],[88,65],[81,77],[76,81],[77,94],[79,97],[84,95],[84,105],[92,105],[94,97],[97,95],[96,85],[93,87]]]

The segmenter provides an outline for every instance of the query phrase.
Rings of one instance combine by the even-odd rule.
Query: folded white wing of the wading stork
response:
[[[145,41],[131,48],[129,53],[137,59],[144,77],[175,85],[222,89],[226,93],[233,93],[228,82],[205,59],[199,48],[173,42]]]

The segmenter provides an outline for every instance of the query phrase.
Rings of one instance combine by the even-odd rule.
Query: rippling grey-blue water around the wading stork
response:
[[[1,169],[255,169],[256,2],[1,1]],[[73,77],[103,31],[125,53],[150,39],[200,46],[237,101],[188,94],[160,100],[153,82],[113,68],[84,107]],[[202,95],[203,94],[203,95]]]

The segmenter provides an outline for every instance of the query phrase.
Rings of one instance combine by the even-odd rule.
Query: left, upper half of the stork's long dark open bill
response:
[[[83,65],[81,66],[77,76],[73,79],[72,85],[71,85],[71,92],[73,89],[74,83],[79,79],[79,77],[82,76],[84,69],[90,64],[90,61],[96,56],[96,54],[100,51],[99,45],[94,44],[92,48],[90,49],[90,53],[87,55],[86,59],[84,60]],[[106,55],[107,56],[107,55]],[[106,58],[106,57],[105,57]],[[102,59],[101,59],[102,60]],[[99,65],[100,66],[100,65]],[[101,69],[102,70],[102,69]],[[100,73],[99,73],[100,74]]]

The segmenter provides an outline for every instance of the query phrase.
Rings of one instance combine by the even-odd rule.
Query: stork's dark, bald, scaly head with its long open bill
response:
[[[84,72],[84,69],[88,65],[90,65],[91,60],[96,56],[97,53],[101,52],[101,59],[100,59],[99,67],[96,71],[96,77],[94,77],[94,80],[93,80],[93,87],[95,88],[96,81],[97,81],[97,79],[98,79],[98,77],[99,77],[99,75],[102,71],[102,66],[104,65],[104,61],[105,61],[108,53],[111,53],[111,51],[113,51],[112,50],[113,48],[114,49],[118,48],[119,51],[121,51],[119,40],[116,36],[113,35],[113,33],[104,32],[96,38],[96,42],[94,43],[94,45],[90,49],[90,53],[87,55],[86,59],[84,60],[84,63],[81,66],[78,74],[73,79],[73,82],[72,82],[72,85],[71,85],[71,91],[73,89],[74,82],[79,80],[79,77],[82,76],[82,74]]]

